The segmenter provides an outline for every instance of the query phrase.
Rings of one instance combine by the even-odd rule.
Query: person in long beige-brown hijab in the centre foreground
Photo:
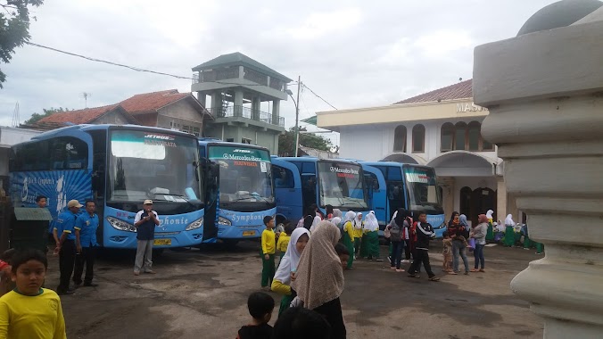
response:
[[[346,218],[347,219],[347,218]],[[315,310],[331,325],[332,339],[345,339],[342,303],[343,269],[335,245],[339,228],[328,221],[321,222],[302,253],[292,287],[303,307]]]

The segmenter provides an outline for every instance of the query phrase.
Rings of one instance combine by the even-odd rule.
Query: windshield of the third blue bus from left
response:
[[[320,206],[327,204],[345,210],[367,210],[364,180],[360,165],[318,161]]]

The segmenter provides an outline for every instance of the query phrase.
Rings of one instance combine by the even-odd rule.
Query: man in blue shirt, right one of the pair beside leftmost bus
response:
[[[96,228],[98,228],[98,216],[95,213],[96,205],[92,200],[86,202],[86,212],[79,215],[76,219],[76,261],[73,270],[73,283],[76,286],[82,285],[82,272],[84,263],[86,263],[86,277],[84,285],[95,287],[98,284],[92,282],[94,276],[94,266],[96,258]]]

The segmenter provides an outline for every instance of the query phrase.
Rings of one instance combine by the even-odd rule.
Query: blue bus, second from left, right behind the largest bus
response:
[[[274,218],[277,212],[268,149],[202,138],[199,153],[219,167],[218,192],[208,200],[208,205],[216,205],[217,239],[236,244],[242,239],[259,238],[266,228],[264,217]],[[204,240],[215,241],[216,237]]]

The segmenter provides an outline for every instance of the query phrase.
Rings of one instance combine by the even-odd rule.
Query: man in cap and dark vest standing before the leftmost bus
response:
[[[143,211],[136,213],[134,226],[136,227],[136,260],[134,261],[134,275],[137,276],[142,270],[145,273],[154,274],[153,266],[153,239],[155,238],[155,226],[159,225],[159,216],[153,211],[153,200],[145,200]]]

